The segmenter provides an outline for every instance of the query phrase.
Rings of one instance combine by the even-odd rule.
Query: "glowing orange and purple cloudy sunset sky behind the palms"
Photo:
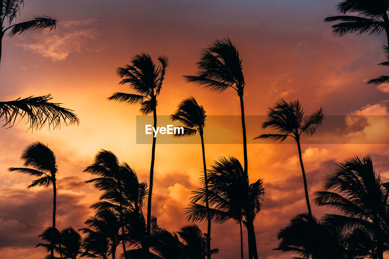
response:
[[[377,66],[385,61],[382,46],[387,45],[386,38],[334,36],[331,24],[323,23],[323,19],[337,14],[337,3],[25,1],[18,22],[31,19],[31,15],[45,15],[55,17],[58,24],[50,33],[27,32],[3,40],[1,101],[51,93],[52,101],[74,110],[81,123],[33,133],[23,122],[0,128],[2,258],[41,259],[45,255],[44,249],[34,247],[40,242],[38,235],[51,225],[53,189],[27,189],[31,177],[7,171],[9,167],[23,166],[19,158],[28,144],[43,142],[56,155],[57,228],[82,228],[92,214],[89,206],[98,200],[99,193],[91,184],[83,183],[92,176],[82,171],[100,149],[114,152],[137,172],[140,180],[149,181],[151,145],[136,143],[139,107],[107,100],[116,91],[130,93],[128,86],[118,84],[116,68],[129,63],[135,54],[147,52],[155,61],[158,55],[165,54],[170,59],[158,98],[158,115],[172,114],[180,100],[189,96],[194,96],[208,115],[240,115],[236,91],[209,93],[182,77],[193,75],[200,50],[212,39],[222,37],[235,42],[242,59],[247,83],[246,115],[266,115],[266,109],[279,98],[300,100],[307,114],[322,107],[328,116],[389,115],[389,86],[365,83],[389,74],[387,68]],[[343,118],[338,128],[326,128],[324,119],[322,131],[318,130],[322,142],[302,145],[311,194],[321,190],[322,177],[331,172],[334,163],[350,156],[370,154],[382,180],[389,178],[388,145],[376,144],[389,143],[389,116],[366,117],[363,123]],[[254,143],[251,140],[264,131],[259,122],[247,121],[247,139]],[[345,126],[349,128],[344,130]],[[240,124],[212,128],[212,134],[217,130],[219,135],[238,140],[242,135]],[[193,138],[200,143],[199,136]],[[277,232],[291,217],[307,209],[297,147],[291,143],[248,145],[250,182],[263,179],[266,189],[262,212],[254,223],[259,258],[291,258],[291,254],[272,250],[277,247]],[[223,156],[235,156],[243,164],[241,144],[207,144],[205,153],[207,165]],[[191,224],[183,211],[191,191],[200,187],[202,168],[200,144],[158,144],[157,140],[152,214],[158,218],[159,226],[178,231]],[[328,212],[311,206],[318,218]],[[206,224],[199,225],[206,232]],[[244,238],[247,255],[246,232]],[[213,224],[211,246],[219,248],[215,258],[238,258],[239,226],[232,221]]]

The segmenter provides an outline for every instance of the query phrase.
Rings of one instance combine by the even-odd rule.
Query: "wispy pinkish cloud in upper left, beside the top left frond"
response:
[[[53,61],[64,60],[71,53],[91,50],[87,46],[90,45],[91,40],[95,40],[98,36],[96,29],[91,28],[91,25],[95,23],[96,19],[65,21],[62,24],[59,23],[56,30],[49,34],[47,32],[40,33],[36,43],[16,45],[45,58],[51,58]],[[37,36],[34,37],[37,38]]]

